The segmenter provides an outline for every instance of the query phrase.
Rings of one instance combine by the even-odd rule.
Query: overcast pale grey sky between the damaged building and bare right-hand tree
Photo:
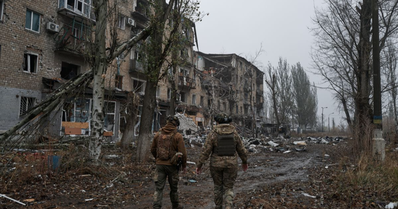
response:
[[[264,66],[268,62],[276,66],[282,56],[290,65],[300,62],[314,71],[310,57],[314,38],[309,28],[314,7],[323,5],[323,0],[201,0],[200,11],[210,14],[196,24],[199,51],[254,54],[262,43],[265,52],[259,61]],[[311,82],[321,83],[319,76],[307,74]],[[344,113],[339,114],[331,92],[318,88],[318,115],[325,106],[325,125],[333,112],[331,126],[332,117],[338,125]]]

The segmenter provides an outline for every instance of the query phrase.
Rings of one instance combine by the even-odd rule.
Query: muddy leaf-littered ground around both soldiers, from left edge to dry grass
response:
[[[345,208],[332,198],[336,180],[332,175],[340,172],[339,152],[346,146],[342,141],[333,145],[307,142],[305,147],[284,140],[285,148],[305,148],[305,152],[276,152],[271,146],[256,147],[257,153],[249,153],[249,170],[239,169],[234,186],[236,209],[292,209],[292,208]],[[188,161],[196,162],[200,148],[188,148]],[[327,155],[325,157],[325,154]],[[155,164],[133,162],[132,150],[111,148],[104,150],[106,167],[100,170],[79,167],[58,174],[37,174],[34,170],[14,176],[4,194],[17,200],[33,199],[28,208],[33,209],[151,209],[154,183],[152,176]],[[66,161],[66,160],[65,160]],[[64,162],[65,162],[64,161]],[[75,160],[76,161],[76,160]],[[18,165],[18,162],[15,162]],[[26,162],[20,169],[33,169]],[[203,173],[195,173],[195,165],[187,166],[187,173],[180,174],[180,201],[185,209],[213,209],[213,181],[209,161]],[[37,166],[37,165],[34,165]],[[328,166],[328,168],[325,168]],[[104,174],[113,175],[110,177]],[[117,170],[117,172],[115,172]],[[120,178],[115,178],[124,174]],[[12,173],[10,173],[12,175]],[[189,180],[196,182],[191,183]],[[8,182],[8,181],[7,181]],[[163,208],[171,209],[169,186],[166,183]],[[307,193],[312,197],[304,196]],[[25,208],[14,202],[0,199],[0,208]]]

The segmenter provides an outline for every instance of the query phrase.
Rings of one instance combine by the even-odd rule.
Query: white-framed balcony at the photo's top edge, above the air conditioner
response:
[[[95,21],[94,7],[91,0],[59,0],[58,13],[66,17],[82,17]]]

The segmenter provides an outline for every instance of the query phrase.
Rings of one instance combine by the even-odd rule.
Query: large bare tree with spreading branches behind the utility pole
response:
[[[312,52],[314,67],[342,103],[348,124],[349,109],[359,128],[372,120],[371,107],[371,0],[325,0],[325,9],[316,9],[312,29],[316,39]],[[388,37],[397,35],[398,0],[380,0],[380,48]],[[352,98],[352,101],[349,99]],[[349,102],[352,102],[350,104]]]

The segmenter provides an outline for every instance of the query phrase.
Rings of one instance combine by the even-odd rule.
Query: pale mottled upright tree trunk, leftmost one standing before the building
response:
[[[93,102],[91,105],[91,137],[88,144],[90,159],[96,161],[101,153],[104,129],[104,96],[105,96],[105,73],[107,68],[106,56],[106,16],[107,0],[98,0],[96,5],[96,32],[95,32],[95,62],[93,68]]]

